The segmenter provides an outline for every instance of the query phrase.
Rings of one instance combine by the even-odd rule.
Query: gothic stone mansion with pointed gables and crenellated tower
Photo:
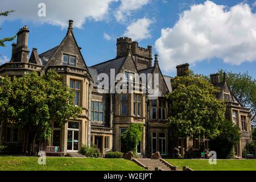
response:
[[[121,135],[130,123],[142,123],[143,135],[137,147],[137,152],[142,156],[159,151],[162,156],[172,157],[174,147],[179,148],[181,156],[185,156],[189,148],[199,148],[200,142],[205,142],[208,147],[207,139],[170,139],[166,123],[170,101],[164,95],[172,92],[172,77],[162,74],[157,55],[153,65],[151,46],[143,48],[130,38],[119,38],[114,59],[88,67],[76,42],[72,25],[73,21],[69,20],[67,35],[59,46],[41,54],[33,48],[30,56],[27,46],[30,31],[24,26],[17,34],[17,43],[12,44],[10,62],[0,66],[0,76],[24,76],[32,71],[44,74],[53,69],[75,92],[73,102],[82,107],[82,113],[76,119],[69,119],[64,126],[53,123],[48,146],[57,146],[64,154],[79,152],[81,146],[91,144],[99,148],[103,155],[108,151],[122,151]],[[183,76],[187,69],[188,64],[177,66],[177,76]],[[158,73],[159,97],[148,99],[148,94],[142,92],[142,84],[132,93],[100,93],[97,90],[97,77],[101,73],[109,77],[118,73],[127,76],[132,75],[129,73]],[[230,93],[225,80],[220,82],[219,75],[211,75],[211,79],[212,84],[221,90],[217,97],[226,101],[226,118],[242,130],[241,142],[235,147],[236,155],[241,156],[242,147],[251,139],[249,110]],[[19,151],[22,143],[22,129],[0,122],[0,144],[8,146],[10,151]]]

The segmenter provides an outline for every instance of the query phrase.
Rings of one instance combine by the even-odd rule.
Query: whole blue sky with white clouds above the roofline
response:
[[[46,17],[38,16],[40,2],[46,4]],[[88,66],[113,59],[116,39],[131,36],[139,46],[154,48],[166,75],[175,76],[175,65],[189,63],[204,75],[224,69],[256,78],[255,5],[237,0],[1,0],[2,10],[16,11],[0,19],[0,39],[26,24],[30,51],[35,47],[42,53],[60,44],[73,19]],[[0,47],[0,64],[10,59],[11,43]]]

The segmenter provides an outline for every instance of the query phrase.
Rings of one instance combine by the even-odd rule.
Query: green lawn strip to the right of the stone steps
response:
[[[210,165],[207,159],[166,159],[167,162],[178,166],[188,166],[195,171],[256,171],[255,159],[217,159],[216,165]]]

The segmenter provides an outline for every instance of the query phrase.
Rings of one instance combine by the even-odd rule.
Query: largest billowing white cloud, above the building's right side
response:
[[[172,28],[163,28],[155,48],[164,71],[217,57],[240,65],[256,60],[256,14],[241,3],[226,9],[211,1],[193,5]]]

